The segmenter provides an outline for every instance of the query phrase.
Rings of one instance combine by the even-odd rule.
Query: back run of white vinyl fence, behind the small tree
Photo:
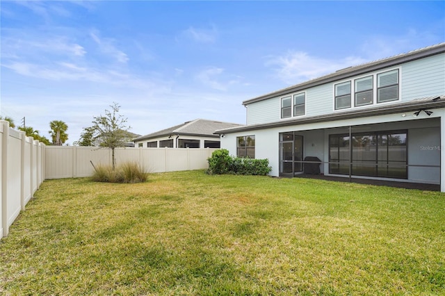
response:
[[[136,162],[146,172],[176,172],[209,167],[207,158],[212,148],[119,148],[115,149],[116,165]],[[91,176],[93,165],[111,165],[111,149],[98,147],[45,147],[45,179]],[[92,163],[92,164],[91,164]]]

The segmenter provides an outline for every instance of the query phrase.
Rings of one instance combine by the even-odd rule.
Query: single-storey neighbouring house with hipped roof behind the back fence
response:
[[[220,137],[215,131],[236,126],[241,124],[197,119],[143,135],[134,142],[136,147],[148,148],[220,148]]]

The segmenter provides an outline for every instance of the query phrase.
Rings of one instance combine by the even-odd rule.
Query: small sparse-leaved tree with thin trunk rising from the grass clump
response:
[[[119,113],[120,106],[113,102],[110,110],[105,110],[105,115],[94,117],[92,129],[95,131],[100,146],[111,149],[111,157],[113,158],[113,170],[115,169],[114,150],[117,147],[125,147],[125,135],[130,128],[126,126],[127,118]]]

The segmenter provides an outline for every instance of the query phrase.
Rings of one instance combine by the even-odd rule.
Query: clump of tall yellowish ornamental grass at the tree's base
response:
[[[109,183],[140,183],[147,181],[148,174],[143,170],[142,165],[124,163],[115,167],[111,165],[97,165],[92,175],[92,181]]]

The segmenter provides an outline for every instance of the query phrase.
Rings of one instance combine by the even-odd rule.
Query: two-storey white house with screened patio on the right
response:
[[[245,126],[216,131],[272,176],[321,161],[321,174],[441,184],[445,192],[445,43],[340,69],[243,101]],[[309,159],[316,159],[309,158]]]

